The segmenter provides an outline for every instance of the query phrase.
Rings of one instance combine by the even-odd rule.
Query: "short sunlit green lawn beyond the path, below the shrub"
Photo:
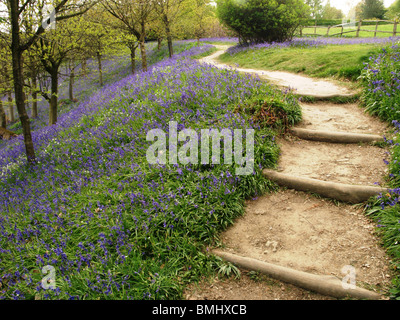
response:
[[[318,47],[260,48],[225,53],[220,61],[240,67],[281,70],[311,77],[356,81],[379,44],[326,45]]]

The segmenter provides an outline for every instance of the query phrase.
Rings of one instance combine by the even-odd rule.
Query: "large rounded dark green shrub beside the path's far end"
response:
[[[307,10],[300,0],[217,1],[218,18],[241,44],[291,40]]]

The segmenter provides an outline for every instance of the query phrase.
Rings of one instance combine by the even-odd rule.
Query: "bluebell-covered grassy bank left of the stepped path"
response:
[[[276,165],[282,122],[258,116],[293,124],[301,112],[291,94],[191,59],[211,49],[190,45],[110,80],[35,130],[35,167],[25,166],[20,140],[0,149],[0,298],[181,299],[189,282],[237,272],[208,246],[245,199],[274,187],[262,169]],[[179,131],[254,129],[253,173],[237,176],[223,161],[149,164],[146,133],[168,133],[172,120]],[[56,278],[46,290],[47,265]]]

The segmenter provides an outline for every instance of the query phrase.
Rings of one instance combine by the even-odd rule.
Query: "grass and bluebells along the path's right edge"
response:
[[[386,138],[389,145],[390,187],[386,194],[371,199],[366,214],[378,225],[382,244],[392,257],[395,277],[390,290],[392,299],[400,299],[400,48],[387,46],[371,57],[362,72],[362,106],[367,112],[393,125],[392,138]]]

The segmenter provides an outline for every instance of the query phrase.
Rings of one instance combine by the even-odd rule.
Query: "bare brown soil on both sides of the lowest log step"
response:
[[[342,268],[356,270],[356,284],[385,292],[391,278],[389,258],[379,245],[375,225],[362,208],[304,192],[281,190],[246,203],[246,213],[221,235],[224,250],[268,263],[342,279]],[[186,291],[187,299],[332,299],[266,276],[254,280],[204,280]]]

